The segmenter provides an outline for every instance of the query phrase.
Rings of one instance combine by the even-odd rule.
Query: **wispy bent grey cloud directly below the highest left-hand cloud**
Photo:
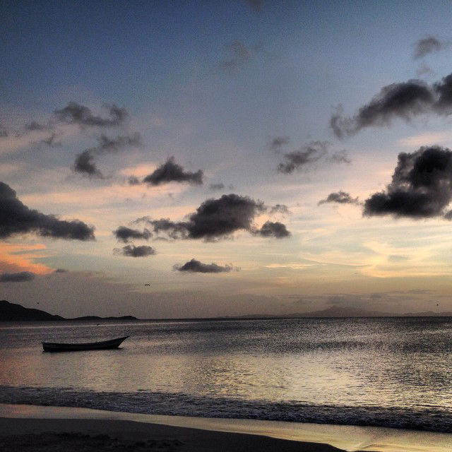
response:
[[[105,179],[95,163],[96,155],[116,153],[129,146],[138,147],[142,144],[139,133],[133,133],[131,136],[117,136],[116,138],[109,138],[102,134],[97,138],[97,141],[99,143],[97,146],[85,149],[76,156],[72,167],[75,172],[87,174],[89,177]]]

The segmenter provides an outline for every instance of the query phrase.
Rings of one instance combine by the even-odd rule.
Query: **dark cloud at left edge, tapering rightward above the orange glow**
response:
[[[0,239],[26,232],[54,239],[94,240],[94,227],[80,220],[59,220],[32,210],[19,201],[16,191],[0,182]]]

